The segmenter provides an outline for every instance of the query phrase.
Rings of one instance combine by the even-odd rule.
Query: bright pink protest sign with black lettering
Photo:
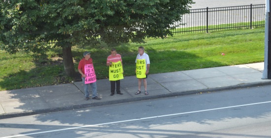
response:
[[[93,64],[85,65],[85,84],[96,82],[96,74],[94,71]]]

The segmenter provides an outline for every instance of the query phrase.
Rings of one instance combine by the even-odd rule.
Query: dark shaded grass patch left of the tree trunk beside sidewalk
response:
[[[63,72],[64,67],[61,65],[37,67],[29,71],[19,70],[3,77],[0,87],[2,90],[12,90],[69,83]]]

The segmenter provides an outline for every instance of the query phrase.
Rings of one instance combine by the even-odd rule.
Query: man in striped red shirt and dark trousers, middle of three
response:
[[[112,62],[121,62],[121,65],[123,67],[122,64],[122,59],[121,59],[121,55],[117,54],[117,51],[115,48],[111,49],[111,55],[109,55],[107,57],[107,61],[106,61],[106,66],[110,66],[112,65]],[[111,94],[110,96],[113,96],[115,94],[115,85],[117,84],[117,94],[122,95],[123,93],[120,92],[120,80],[116,80],[116,81],[110,81],[111,83]]]

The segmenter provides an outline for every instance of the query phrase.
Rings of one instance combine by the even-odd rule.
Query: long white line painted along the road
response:
[[[271,101],[261,102],[261,103],[253,103],[253,104],[242,104],[242,105],[235,105],[235,106],[228,106],[228,107],[221,107],[221,108],[213,108],[213,109],[206,109],[206,110],[198,110],[198,111],[191,111],[191,112],[183,112],[183,113],[174,113],[174,114],[167,114],[167,115],[160,115],[160,116],[152,116],[152,117],[145,117],[145,118],[138,118],[138,119],[131,119],[131,120],[123,120],[123,121],[116,121],[116,122],[109,122],[109,123],[102,123],[102,124],[95,124],[95,125],[87,125],[87,126],[81,126],[81,127],[74,127],[74,128],[60,129],[60,130],[52,130],[52,131],[44,131],[44,132],[37,132],[37,133],[29,133],[29,134],[24,134],[24,135],[8,136],[8,137],[1,137],[1,138],[13,138],[13,137],[29,136],[29,135],[35,135],[35,134],[50,133],[50,132],[57,132],[57,131],[65,131],[65,130],[71,130],[71,129],[86,128],[86,127],[93,127],[93,126],[101,126],[101,125],[108,125],[108,124],[116,124],[116,123],[130,122],[130,121],[136,121],[136,120],[144,120],[144,119],[157,118],[157,117],[166,117],[166,116],[172,116],[172,115],[204,112],[204,111],[211,111],[211,110],[220,110],[220,109],[226,109],[226,108],[248,106],[248,105],[255,105],[255,104],[267,104],[267,103],[271,103]]]

